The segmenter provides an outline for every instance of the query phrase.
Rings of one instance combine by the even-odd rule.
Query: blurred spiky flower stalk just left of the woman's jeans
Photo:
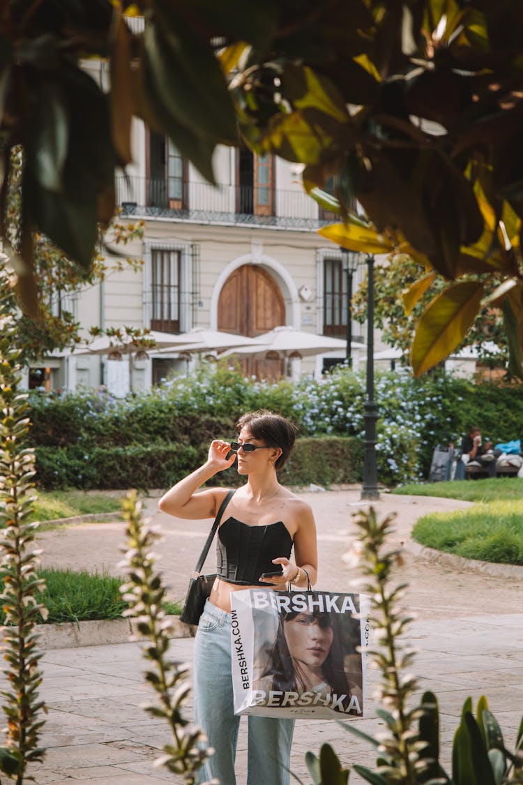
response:
[[[200,728],[189,725],[183,717],[190,685],[187,666],[179,666],[169,658],[171,625],[163,609],[165,589],[161,576],[154,570],[153,547],[159,535],[144,524],[142,504],[136,501],[135,491],[125,497],[122,507],[128,539],[122,566],[129,582],[121,587],[124,600],[129,603],[129,611],[125,613],[136,617],[136,630],[148,641],[143,655],[154,664],[154,670],[146,670],[145,678],[158,696],[158,703],[144,708],[153,717],[165,719],[173,736],[173,743],[165,745],[165,756],[158,759],[157,765],[182,774],[186,785],[194,785],[196,772],[212,750],[197,747],[205,737]]]

